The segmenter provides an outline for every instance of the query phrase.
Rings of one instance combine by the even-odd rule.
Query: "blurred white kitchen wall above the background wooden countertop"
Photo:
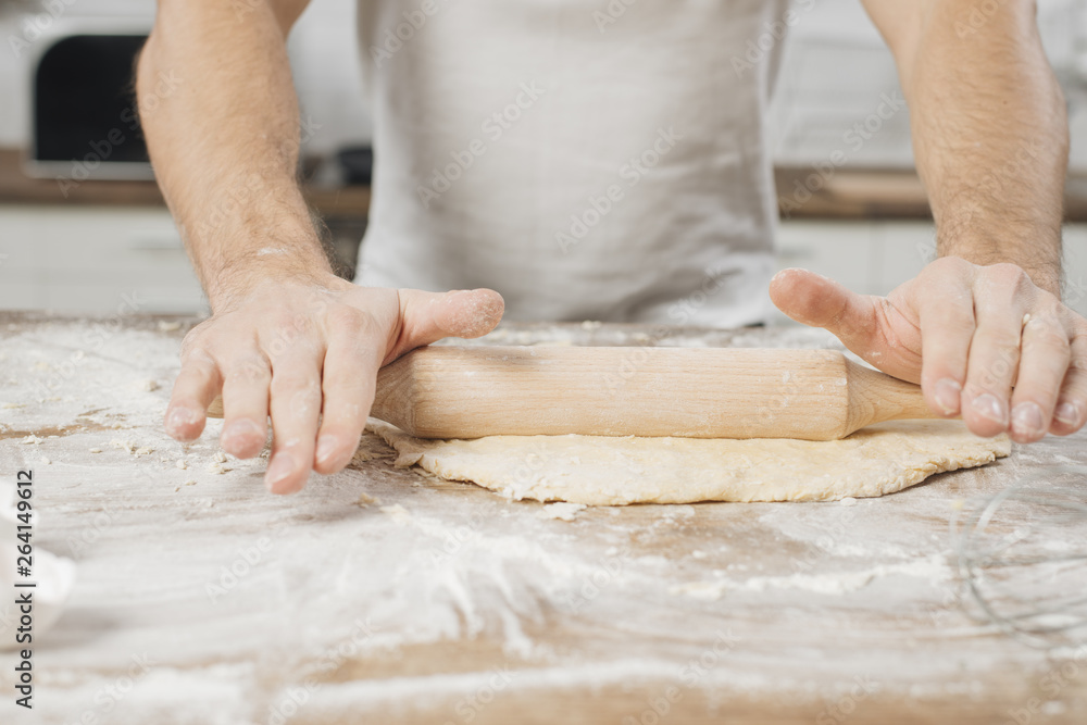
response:
[[[225,1],[225,0],[224,0]],[[515,2],[516,0],[510,0]],[[68,4],[53,20],[39,14],[50,32],[92,22],[135,22],[149,26],[149,0],[62,0]],[[327,153],[364,142],[372,133],[360,93],[354,42],[355,0],[313,0],[291,34],[290,51],[303,114],[315,133],[308,146]],[[601,0],[603,2],[603,0]],[[984,4],[978,0],[978,7]],[[1087,171],[1087,0],[1039,0],[1039,25],[1072,105],[1073,166]],[[0,146],[22,146],[27,136],[26,58],[16,57],[12,37],[25,25],[20,8],[41,8],[33,0],[0,0]],[[860,149],[844,136],[870,121],[884,93],[898,92],[895,65],[860,0],[798,0],[799,22],[786,46],[771,126],[780,163],[804,164],[848,151],[857,165],[909,166],[909,114],[880,120],[879,130]],[[805,10],[809,8],[809,10]],[[870,123],[874,123],[870,121]]]

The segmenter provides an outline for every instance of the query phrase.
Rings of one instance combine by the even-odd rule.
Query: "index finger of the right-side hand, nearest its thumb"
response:
[[[917,304],[921,321],[921,389],[928,408],[947,417],[961,411],[970,342],[975,332],[974,300],[969,280],[942,276],[936,290],[922,289]]]

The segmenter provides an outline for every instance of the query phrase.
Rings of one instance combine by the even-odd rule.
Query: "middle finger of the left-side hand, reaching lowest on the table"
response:
[[[322,353],[316,342],[296,340],[272,361],[272,455],[264,484],[273,493],[300,491],[313,467]]]

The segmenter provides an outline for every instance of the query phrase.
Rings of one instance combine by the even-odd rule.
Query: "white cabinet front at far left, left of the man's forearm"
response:
[[[0,205],[0,309],[198,313],[207,301],[164,209]]]

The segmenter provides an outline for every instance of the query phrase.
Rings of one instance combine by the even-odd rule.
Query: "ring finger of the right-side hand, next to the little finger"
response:
[[[1071,330],[1055,314],[1038,314],[1023,325],[1020,366],[1011,400],[1012,439],[1028,443],[1045,437],[1057,396],[1069,370]]]

